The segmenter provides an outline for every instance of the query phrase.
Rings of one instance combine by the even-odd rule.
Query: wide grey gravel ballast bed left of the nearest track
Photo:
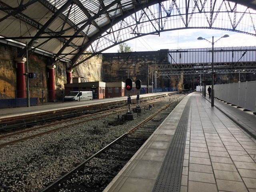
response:
[[[171,100],[177,97],[172,96]],[[109,123],[117,119],[117,114],[114,114],[0,148],[0,191],[40,191],[155,113],[169,100],[170,97],[161,98],[152,110],[143,110],[140,116],[134,114],[134,120],[121,125]]]

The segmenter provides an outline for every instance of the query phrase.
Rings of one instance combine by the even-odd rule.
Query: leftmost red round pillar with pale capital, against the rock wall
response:
[[[17,98],[26,98],[25,62],[26,58],[16,58],[17,61]]]

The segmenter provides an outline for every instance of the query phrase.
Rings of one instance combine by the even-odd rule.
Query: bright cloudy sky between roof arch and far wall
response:
[[[163,32],[158,35],[147,35],[127,41],[126,43],[133,51],[157,51],[160,49],[190,49],[190,48],[211,48],[212,36],[214,42],[220,37],[228,34],[228,38],[222,38],[214,47],[240,47],[240,46],[256,46],[256,36],[247,34],[211,29],[184,29],[170,32]],[[197,40],[201,36],[206,40]],[[118,46],[114,46],[103,53],[117,52]]]

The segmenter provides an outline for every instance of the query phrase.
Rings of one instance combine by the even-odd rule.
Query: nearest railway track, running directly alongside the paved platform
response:
[[[177,99],[168,103],[40,192],[101,192],[170,114],[178,102]]]

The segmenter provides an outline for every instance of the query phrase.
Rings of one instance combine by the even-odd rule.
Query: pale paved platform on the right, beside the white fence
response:
[[[256,116],[188,94],[104,192],[256,192]]]

